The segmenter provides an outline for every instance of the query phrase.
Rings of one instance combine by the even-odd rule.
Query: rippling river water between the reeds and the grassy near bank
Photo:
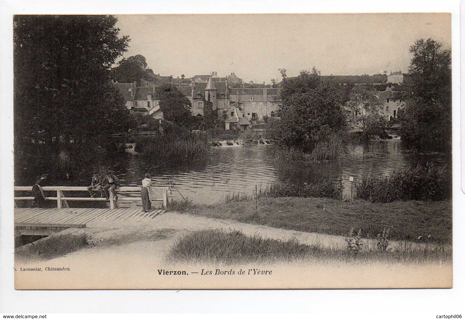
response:
[[[114,170],[126,186],[140,186],[145,173],[152,175],[154,186],[171,183],[184,196],[197,203],[219,202],[228,194],[252,194],[274,181],[292,183],[336,179],[342,183],[343,195],[350,196],[353,177],[390,175],[395,169],[417,163],[444,165],[441,154],[420,154],[403,149],[399,140],[370,141],[352,146],[349,156],[338,162],[276,163],[270,145],[224,146],[212,149],[206,165],[163,170],[147,164],[140,155],[128,154]],[[177,191],[173,195],[180,198]]]

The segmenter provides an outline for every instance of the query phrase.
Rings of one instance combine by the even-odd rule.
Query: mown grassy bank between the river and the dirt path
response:
[[[256,206],[257,205],[257,206]],[[257,208],[256,208],[257,207]],[[170,210],[251,224],[322,234],[347,235],[361,229],[362,237],[376,238],[384,228],[390,239],[452,242],[452,202],[370,203],[329,198],[258,198],[213,205],[173,202]]]

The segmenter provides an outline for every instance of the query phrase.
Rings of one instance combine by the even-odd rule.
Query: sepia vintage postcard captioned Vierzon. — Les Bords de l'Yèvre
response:
[[[14,15],[15,288],[452,287],[451,48],[450,13]]]

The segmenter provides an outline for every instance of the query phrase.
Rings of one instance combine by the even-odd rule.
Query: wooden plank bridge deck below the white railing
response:
[[[48,235],[66,228],[153,219],[163,212],[152,209],[144,213],[141,208],[14,208],[14,228],[22,235]]]

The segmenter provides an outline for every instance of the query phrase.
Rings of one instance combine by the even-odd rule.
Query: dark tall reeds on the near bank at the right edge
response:
[[[440,201],[452,195],[450,173],[434,164],[394,171],[391,176],[364,177],[355,184],[357,198],[371,202]]]

